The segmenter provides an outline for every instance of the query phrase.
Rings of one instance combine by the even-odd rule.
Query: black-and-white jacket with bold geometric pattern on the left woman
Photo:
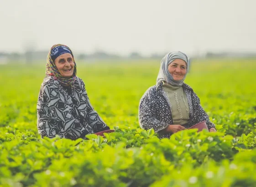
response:
[[[110,128],[90,104],[82,79],[77,77],[74,87],[63,87],[47,76],[37,101],[37,129],[41,137],[75,140]]]

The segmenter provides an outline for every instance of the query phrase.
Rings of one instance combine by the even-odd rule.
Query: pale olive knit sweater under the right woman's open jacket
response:
[[[163,90],[167,92],[172,110],[173,124],[184,125],[189,121],[188,98],[182,86],[163,84]]]

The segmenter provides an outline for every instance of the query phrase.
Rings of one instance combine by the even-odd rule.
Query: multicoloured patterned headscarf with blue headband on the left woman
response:
[[[73,76],[71,78],[63,77],[60,74],[60,72],[58,71],[58,69],[57,69],[57,67],[54,63],[54,60],[58,56],[63,55],[65,53],[70,53],[72,55],[73,61],[74,61]],[[70,48],[68,46],[62,45],[62,44],[56,44],[56,45],[52,46],[52,48],[49,51],[48,56],[47,56],[46,75],[54,76],[54,79],[56,79],[63,86],[73,86],[74,81],[76,80],[76,74],[77,74],[77,68],[76,67],[77,66],[76,66],[76,63],[75,63],[73,53],[72,53],[72,51],[70,50]]]

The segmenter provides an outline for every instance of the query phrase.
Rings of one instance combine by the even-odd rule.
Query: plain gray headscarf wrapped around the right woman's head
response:
[[[180,81],[175,81],[173,79],[172,75],[170,74],[170,72],[168,71],[169,64],[171,64],[172,61],[174,61],[175,59],[181,59],[181,60],[185,61],[187,64],[187,72],[186,72],[184,78]],[[182,86],[184,83],[183,81],[185,80],[186,75],[188,73],[188,69],[189,69],[188,56],[186,56],[184,53],[182,53],[180,51],[174,51],[174,52],[168,53],[166,56],[164,56],[162,58],[160,70],[159,70],[159,73],[157,76],[157,83],[159,81],[166,81],[168,84],[170,84],[172,86]]]

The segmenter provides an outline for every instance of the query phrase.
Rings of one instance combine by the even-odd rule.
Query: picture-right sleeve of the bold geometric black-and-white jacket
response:
[[[84,86],[84,82],[82,82],[82,89],[83,89],[83,94],[85,96],[85,99],[87,101],[87,119],[89,122],[89,126],[94,130],[94,132],[99,132],[99,131],[105,131],[109,130],[110,127],[106,125],[106,123],[103,121],[103,119],[99,116],[98,112],[94,110],[94,107],[92,106],[89,96],[87,94],[87,91]]]

